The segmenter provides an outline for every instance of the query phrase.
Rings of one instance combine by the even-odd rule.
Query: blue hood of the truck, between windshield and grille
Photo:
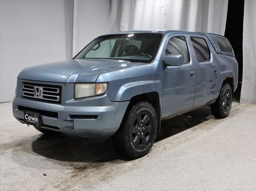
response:
[[[106,71],[132,66],[133,63],[113,59],[72,59],[23,69],[18,79],[57,83],[95,82]]]

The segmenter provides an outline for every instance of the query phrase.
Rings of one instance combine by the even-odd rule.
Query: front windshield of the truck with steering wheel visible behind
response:
[[[119,59],[151,62],[161,43],[159,33],[105,35],[94,39],[75,59]]]

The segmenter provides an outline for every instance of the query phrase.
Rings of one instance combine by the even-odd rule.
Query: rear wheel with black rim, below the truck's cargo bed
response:
[[[216,118],[226,118],[232,105],[232,89],[229,84],[224,84],[215,103],[211,105],[212,114]]]

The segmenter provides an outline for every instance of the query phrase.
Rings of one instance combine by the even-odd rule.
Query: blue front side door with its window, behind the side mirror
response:
[[[162,118],[191,110],[196,91],[196,66],[191,59],[191,47],[186,34],[171,35],[165,44],[162,57],[167,54],[183,56],[183,65],[163,69]]]

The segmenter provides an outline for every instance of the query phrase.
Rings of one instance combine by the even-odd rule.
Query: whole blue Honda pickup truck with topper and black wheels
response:
[[[228,39],[183,31],[129,31],[94,39],[73,59],[23,69],[13,115],[44,134],[109,138],[145,156],[162,119],[211,106],[228,116],[238,63]]]

